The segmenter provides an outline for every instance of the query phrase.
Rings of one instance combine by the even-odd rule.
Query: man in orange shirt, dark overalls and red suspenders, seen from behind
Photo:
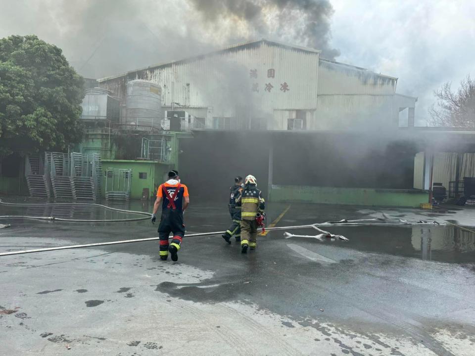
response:
[[[163,200],[163,202],[162,202]],[[166,260],[168,253],[172,256],[172,261],[178,261],[178,250],[180,250],[182,239],[185,236],[185,224],[183,223],[183,213],[190,204],[188,187],[180,182],[177,171],[168,172],[168,180],[160,184],[157,189],[157,199],[153,205],[151,222],[155,223],[158,207],[162,202],[162,215],[158,226],[158,236],[160,238],[160,259]],[[173,232],[172,242],[168,243],[170,232]]]

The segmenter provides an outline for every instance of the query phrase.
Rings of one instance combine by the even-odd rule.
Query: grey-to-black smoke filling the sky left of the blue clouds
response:
[[[332,12],[328,0],[0,0],[0,38],[35,34],[101,78],[258,37],[333,58]]]

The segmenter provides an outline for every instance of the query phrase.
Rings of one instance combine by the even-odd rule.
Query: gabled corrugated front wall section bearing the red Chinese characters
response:
[[[272,115],[274,109],[315,108],[318,59],[316,52],[261,42],[129,73],[100,87],[123,97],[127,81],[144,79],[162,87],[164,106],[212,106],[213,116],[230,117],[243,105]]]

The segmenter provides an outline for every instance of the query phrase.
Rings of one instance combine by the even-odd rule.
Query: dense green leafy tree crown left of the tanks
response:
[[[36,36],[0,39],[0,157],[79,142],[84,80]]]

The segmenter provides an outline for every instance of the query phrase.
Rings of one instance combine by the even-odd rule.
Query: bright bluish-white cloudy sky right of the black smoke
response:
[[[397,91],[418,96],[426,125],[433,90],[475,74],[473,1],[332,0],[332,45],[339,61],[398,77]]]

